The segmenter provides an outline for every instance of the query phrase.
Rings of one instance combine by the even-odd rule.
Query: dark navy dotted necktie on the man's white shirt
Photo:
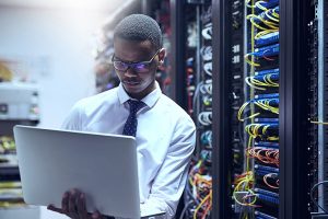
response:
[[[142,101],[133,101],[133,100],[129,100],[128,104],[130,105],[130,115],[126,122],[122,135],[136,137],[137,126],[138,126],[137,112],[143,106],[145,106],[145,104]]]

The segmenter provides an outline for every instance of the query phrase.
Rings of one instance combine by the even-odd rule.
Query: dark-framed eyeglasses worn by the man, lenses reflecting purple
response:
[[[113,66],[116,70],[126,72],[129,68],[132,68],[137,73],[144,73],[149,71],[150,65],[153,62],[154,58],[157,56],[161,49],[159,49],[155,55],[149,61],[140,62],[124,62],[120,60],[114,60],[115,55],[112,57]]]

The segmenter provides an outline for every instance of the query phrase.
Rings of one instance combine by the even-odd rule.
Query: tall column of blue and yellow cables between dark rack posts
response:
[[[246,0],[245,103],[237,119],[247,134],[244,173],[235,177],[235,212],[239,218],[277,217],[279,203],[279,0]],[[257,118],[255,118],[257,117]],[[248,120],[249,119],[249,120]],[[246,142],[247,141],[247,142]],[[278,145],[278,146],[277,146]],[[243,208],[243,206],[245,206]],[[260,208],[259,208],[260,207]],[[259,212],[254,215],[254,208]]]

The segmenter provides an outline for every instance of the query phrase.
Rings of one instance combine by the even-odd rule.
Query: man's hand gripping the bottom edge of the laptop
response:
[[[49,205],[48,210],[67,215],[73,219],[105,219],[99,211],[89,214],[85,207],[85,195],[78,189],[66,192],[61,199],[61,208]]]

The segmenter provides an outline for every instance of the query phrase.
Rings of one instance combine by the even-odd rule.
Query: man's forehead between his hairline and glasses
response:
[[[115,57],[124,61],[140,61],[151,58],[154,53],[150,41],[129,41],[124,38],[114,39]]]

